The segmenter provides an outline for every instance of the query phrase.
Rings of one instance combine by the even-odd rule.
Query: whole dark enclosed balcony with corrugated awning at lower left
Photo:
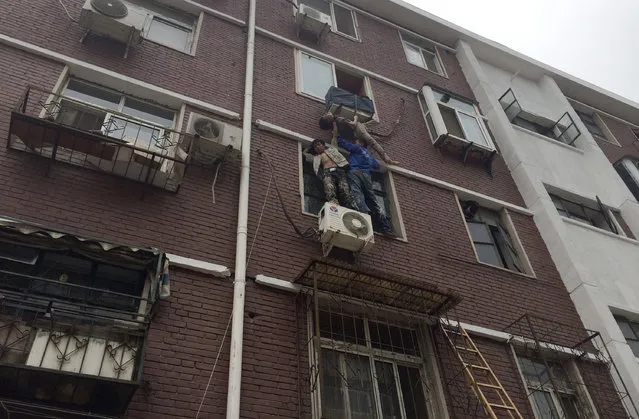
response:
[[[123,414],[141,382],[161,263],[153,249],[0,218],[5,409],[45,417]]]

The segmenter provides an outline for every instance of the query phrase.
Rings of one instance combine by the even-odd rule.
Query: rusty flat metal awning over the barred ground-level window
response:
[[[342,262],[315,259],[295,280],[318,291],[346,295],[385,306],[439,316],[461,298],[422,280],[362,269]]]

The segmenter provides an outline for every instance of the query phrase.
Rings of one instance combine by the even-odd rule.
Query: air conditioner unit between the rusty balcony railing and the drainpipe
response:
[[[209,163],[219,157],[237,157],[242,148],[242,129],[198,113],[191,113],[187,132],[194,136],[191,155]]]

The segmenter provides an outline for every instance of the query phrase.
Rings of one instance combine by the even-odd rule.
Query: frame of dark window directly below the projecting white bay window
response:
[[[530,259],[528,258],[528,254],[526,253],[526,250],[524,248],[523,243],[521,242],[521,239],[519,238],[519,234],[517,233],[517,229],[515,228],[514,223],[512,222],[512,217],[510,216],[510,212],[508,211],[508,209],[506,208],[500,208],[500,209],[495,209],[495,208],[491,208],[488,206],[482,206],[481,204],[478,203],[479,205],[479,211],[481,211],[481,209],[487,210],[487,211],[491,211],[494,212],[499,219],[497,220],[500,224],[500,229],[504,230],[504,233],[507,235],[507,237],[504,238],[505,242],[506,242],[506,246],[509,246],[508,241],[511,242],[511,245],[513,247],[512,250],[508,250],[506,249],[506,251],[512,251],[514,252],[514,255],[511,255],[513,258],[516,258],[515,262],[516,265],[519,265],[521,267],[521,271],[515,270],[515,269],[510,269],[506,263],[506,256],[503,254],[503,250],[500,249],[499,244],[496,242],[495,237],[492,235],[492,233],[490,232],[490,229],[488,229],[488,234],[492,240],[492,245],[496,248],[497,251],[497,255],[501,258],[502,263],[504,264],[504,266],[499,266],[499,265],[494,265],[492,263],[488,263],[488,262],[484,262],[482,260],[480,260],[479,258],[479,253],[477,252],[477,249],[475,248],[475,239],[473,238],[473,235],[470,231],[470,227],[469,227],[469,223],[471,222],[475,222],[478,223],[477,221],[468,221],[466,219],[466,215],[464,214],[464,210],[462,207],[462,201],[473,201],[474,198],[472,196],[468,196],[464,198],[460,198],[457,194],[454,195],[455,200],[457,201],[457,207],[459,209],[459,213],[462,217],[462,221],[464,222],[464,228],[466,228],[466,233],[468,234],[468,239],[470,240],[470,244],[471,247],[473,249],[473,253],[475,254],[475,259],[477,260],[477,263],[480,263],[482,265],[486,265],[486,266],[491,266],[493,268],[497,268],[497,269],[501,269],[507,272],[511,272],[513,274],[516,275],[523,275],[523,276],[527,276],[529,278],[535,278],[535,271],[533,269],[532,264],[530,263]],[[475,201],[476,202],[476,201]],[[482,224],[487,225],[485,222],[483,222]],[[487,243],[488,244],[488,243]]]

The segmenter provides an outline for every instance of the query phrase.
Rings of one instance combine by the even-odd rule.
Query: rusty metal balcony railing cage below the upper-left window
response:
[[[177,191],[191,138],[120,112],[28,87],[11,113],[8,147]]]

